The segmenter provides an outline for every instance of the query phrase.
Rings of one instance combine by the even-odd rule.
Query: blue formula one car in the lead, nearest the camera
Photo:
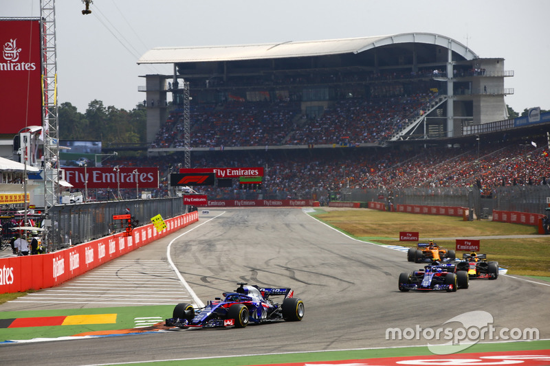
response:
[[[290,288],[238,285],[234,293],[223,293],[223,300],[217,297],[203,308],[177,304],[173,317],[166,319],[166,325],[177,328],[245,328],[248,323],[300,321],[304,317],[304,303],[294,297]],[[275,296],[284,296],[283,304],[272,301]]]

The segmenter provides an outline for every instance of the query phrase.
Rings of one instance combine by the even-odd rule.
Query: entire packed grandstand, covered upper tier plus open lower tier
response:
[[[174,69],[140,87],[148,163],[165,177],[181,165],[188,129],[190,167],[265,168],[259,192],[205,187],[209,198],[471,186],[489,196],[550,177],[550,115],[509,119],[503,58],[439,34],[162,47],[138,63]]]

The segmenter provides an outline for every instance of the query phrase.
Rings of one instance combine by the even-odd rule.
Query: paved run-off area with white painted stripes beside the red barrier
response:
[[[19,297],[10,303],[107,306],[193,303],[177,275],[164,260],[115,260],[61,286]]]

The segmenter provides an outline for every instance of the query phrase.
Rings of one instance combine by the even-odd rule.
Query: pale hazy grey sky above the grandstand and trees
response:
[[[39,16],[39,0],[0,0],[0,16]],[[380,36],[442,34],[482,58],[504,58],[505,102],[550,109],[548,0],[81,0],[56,1],[59,102],[84,113],[91,100],[131,109],[137,87],[170,65],[137,65],[148,49]],[[1,80],[0,80],[1,84]],[[1,86],[5,87],[5,86]],[[191,85],[192,87],[192,85]]]

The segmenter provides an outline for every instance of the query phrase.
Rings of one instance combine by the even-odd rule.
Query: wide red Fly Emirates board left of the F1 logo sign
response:
[[[158,168],[63,168],[65,180],[74,188],[158,188]],[[135,174],[137,170],[137,174]],[[85,175],[87,183],[85,183]],[[136,180],[137,178],[137,185]]]

